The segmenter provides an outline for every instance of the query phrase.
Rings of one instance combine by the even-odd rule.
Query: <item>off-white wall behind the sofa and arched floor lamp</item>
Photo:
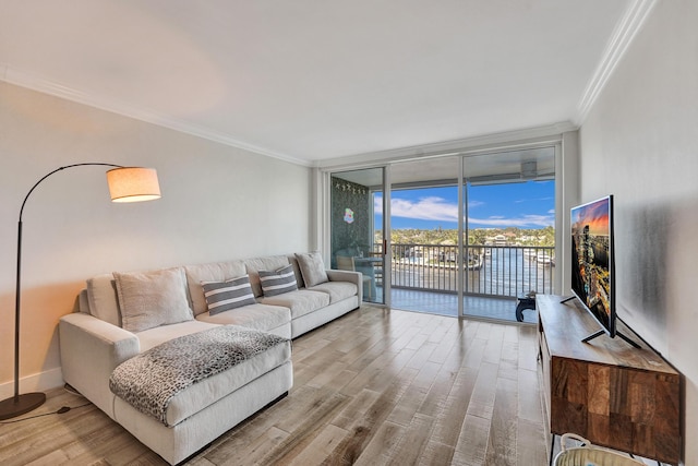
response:
[[[61,384],[57,323],[89,276],[311,247],[308,167],[2,82],[0,157],[0,398],[12,393],[20,205],[55,168],[153,167],[163,199],[112,204],[103,167],[58,172],[32,194],[23,217],[23,393]]]

